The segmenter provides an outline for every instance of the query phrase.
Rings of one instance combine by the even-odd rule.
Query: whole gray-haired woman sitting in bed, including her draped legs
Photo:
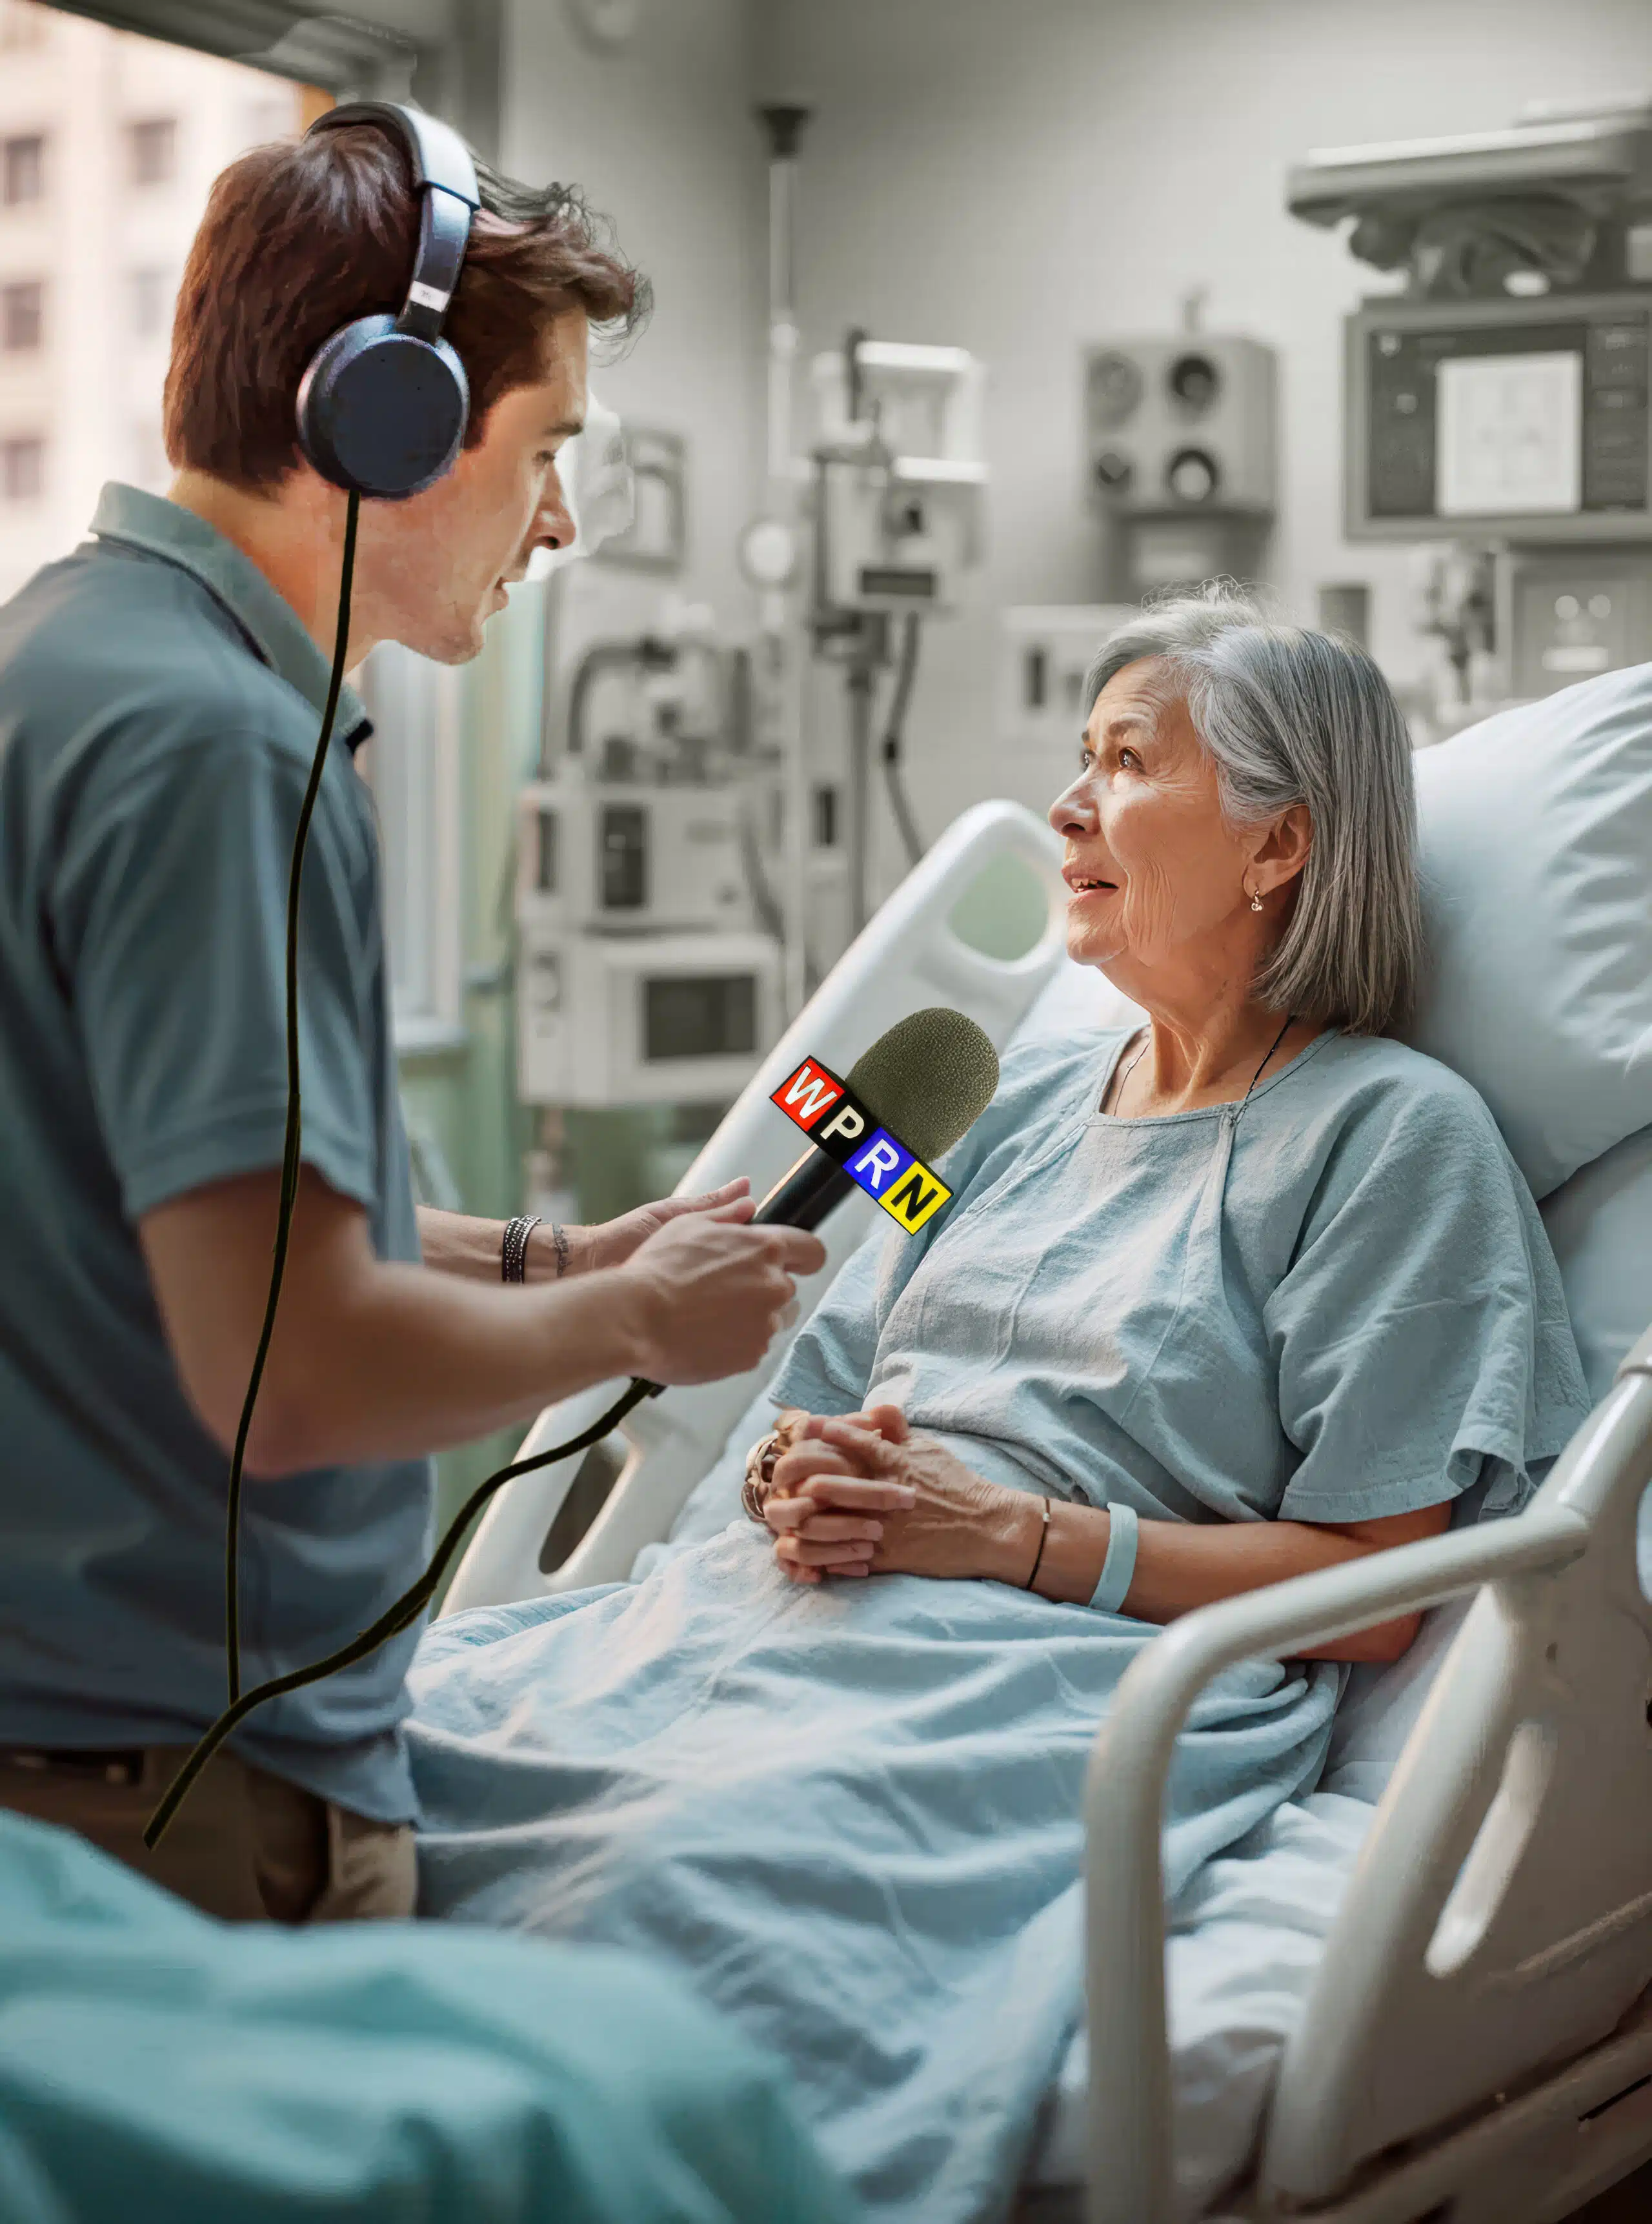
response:
[[[1081,2010],[1081,1786],[1154,1624],[1519,1508],[1585,1412],[1485,1105],[1390,1041],[1419,963],[1376,667],[1234,596],[1089,683],[1052,823],[1138,1032],[1032,1043],[867,1243],[643,1581],[425,1641],[427,1913],[678,1964],[878,2217],[1003,2215]],[[754,1526],[760,1523],[760,1526]],[[1345,1659],[1201,1697],[1172,1893],[1310,1790]],[[776,2215],[785,2213],[776,2188]]]

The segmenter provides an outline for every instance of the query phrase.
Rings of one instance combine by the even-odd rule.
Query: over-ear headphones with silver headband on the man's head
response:
[[[407,151],[418,196],[418,251],[400,316],[358,316],[311,356],[298,387],[298,445],[334,487],[400,503],[451,469],[471,391],[442,338],[471,214],[476,167],[449,125],[389,100],[327,109],[309,127],[371,122]]]

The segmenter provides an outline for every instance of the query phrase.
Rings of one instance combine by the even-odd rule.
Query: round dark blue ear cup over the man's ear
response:
[[[398,331],[394,316],[358,316],[305,371],[298,445],[334,487],[396,503],[454,467],[469,403],[447,340]]]

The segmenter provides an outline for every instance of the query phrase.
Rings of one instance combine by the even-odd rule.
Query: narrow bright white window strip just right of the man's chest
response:
[[[398,1050],[465,1030],[460,912],[460,674],[396,643],[374,649],[360,694],[374,721],[362,772],[378,805],[391,1012]]]

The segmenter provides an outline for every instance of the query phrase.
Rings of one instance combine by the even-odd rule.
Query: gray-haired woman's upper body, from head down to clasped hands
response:
[[[798,1337],[747,1488],[798,1581],[987,1577],[1170,1621],[1434,1535],[1465,1495],[1514,1508],[1585,1406],[1485,1105],[1387,1039],[1421,930],[1376,667],[1201,598],[1118,634],[1087,694],[1049,812],[1067,947],[1147,1025],[1012,1056],[932,1241]],[[872,1410],[823,1419],[845,1399]]]

